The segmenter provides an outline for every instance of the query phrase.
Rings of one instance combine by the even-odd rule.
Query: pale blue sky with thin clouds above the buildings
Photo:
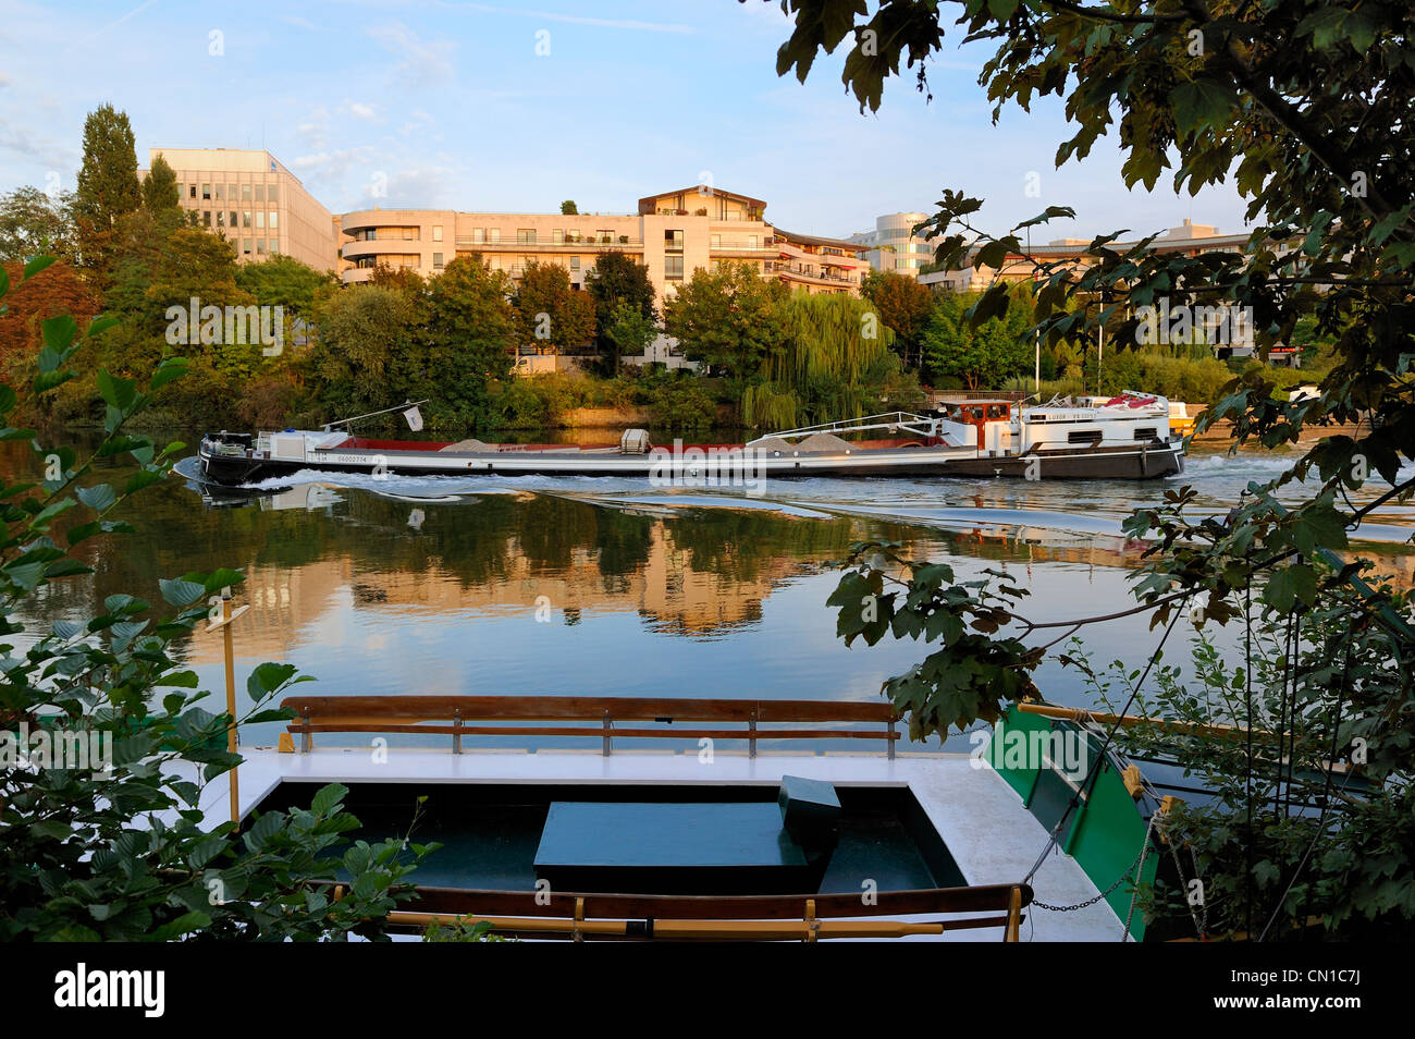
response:
[[[0,191],[72,190],[83,117],[108,102],[140,166],[150,147],[265,147],[333,212],[556,212],[566,198],[634,212],[709,183],[798,234],[931,212],[944,188],[983,198],[992,234],[1077,211],[1036,242],[1184,218],[1244,229],[1228,185],[1126,191],[1114,136],[1057,170],[1061,103],[993,125],[976,82],[989,51],[959,48],[961,30],[930,65],[931,102],[907,75],[865,115],[841,51],[805,85],[775,75],[788,34],[764,0],[0,0]]]

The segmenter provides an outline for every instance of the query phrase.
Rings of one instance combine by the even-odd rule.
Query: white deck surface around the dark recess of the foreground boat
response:
[[[375,763],[368,747],[317,747],[282,753],[272,747],[243,747],[239,811],[248,814],[283,781],[432,784],[625,784],[703,788],[720,786],[780,786],[782,776],[826,780],[838,787],[907,787],[948,845],[969,885],[1022,880],[1047,841],[1047,831],[1023,807],[1022,798],[990,767],[975,767],[966,754],[900,753],[746,753],[719,750],[710,764],[696,752],[616,750],[467,750],[389,747]],[[201,808],[212,822],[225,818],[226,779],[212,781]],[[279,801],[277,801],[279,804]],[[1036,897],[1050,905],[1075,905],[1098,895],[1077,862],[1053,852],[1032,880]],[[1122,922],[1104,900],[1068,913],[1030,906],[1022,940],[1116,941]],[[900,917],[913,919],[913,917]],[[949,931],[949,941],[996,941],[992,930]],[[913,940],[913,938],[908,938]],[[924,940],[938,940],[928,937]]]

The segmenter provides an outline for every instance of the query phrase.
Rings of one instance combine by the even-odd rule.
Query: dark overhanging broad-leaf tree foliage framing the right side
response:
[[[1364,685],[1348,684],[1336,668],[1344,651],[1320,665],[1290,641],[1281,654],[1288,675],[1286,709],[1276,719],[1282,739],[1302,733],[1299,709],[1332,709],[1347,722],[1332,723],[1327,756],[1353,763],[1354,747],[1343,742],[1354,726],[1378,732],[1387,764],[1370,769],[1380,786],[1358,798],[1360,811],[1323,814],[1315,827],[1274,817],[1274,825],[1259,831],[1247,817],[1237,825],[1234,815],[1245,805],[1230,800],[1227,817],[1210,818],[1210,834],[1200,827],[1191,839],[1206,855],[1220,852],[1210,863],[1228,880],[1225,890],[1242,900],[1244,919],[1259,907],[1259,920],[1272,910],[1269,923],[1276,926],[1259,927],[1261,934],[1293,933],[1290,924],[1306,919],[1307,896],[1316,912],[1327,913],[1332,930],[1354,914],[1408,929],[1415,917],[1415,856],[1408,825],[1395,820],[1409,818],[1411,609],[1368,582],[1371,565],[1348,538],[1374,508],[1408,500],[1415,490],[1401,469],[1415,459],[1415,125],[1408,119],[1415,103],[1408,45],[1415,8],[1332,0],[894,0],[873,10],[863,0],[785,0],[782,7],[794,16],[794,28],[778,52],[778,72],[795,69],[804,79],[821,50],[848,44],[842,78],[862,109],[876,109],[886,79],[901,69],[913,71],[927,92],[925,61],[941,50],[951,13],[961,35],[996,45],[979,76],[995,115],[1007,105],[1027,109],[1046,95],[1064,101],[1070,136],[1057,149],[1058,166],[1085,159],[1114,132],[1126,187],[1152,188],[1173,170],[1174,191],[1194,194],[1231,178],[1248,201],[1248,248],[1199,256],[1155,252],[1152,236],[1119,248],[1124,231],[1115,231],[1080,251],[1084,266],[1033,260],[1023,232],[1073,217],[1071,209],[1049,207],[1010,231],[989,234],[972,222],[982,202],[947,190],[920,231],[941,239],[937,260],[948,269],[969,259],[996,268],[1009,253],[1023,256],[1037,289],[1036,331],[1051,347],[1094,343],[1102,323],[1160,300],[1170,309],[1251,309],[1262,351],[1288,341],[1303,323],[1330,340],[1332,367],[1319,396],[1292,401],[1275,392],[1259,368],[1231,381],[1206,412],[1203,426],[1232,423],[1234,449],[1305,442],[1302,453],[1271,484],[1251,486],[1225,517],[1191,515],[1196,495],[1187,488],[1166,491],[1160,507],[1135,514],[1126,534],[1149,539],[1150,548],[1133,612],[1167,624],[1193,606],[1213,623],[1251,623],[1244,607],[1252,596],[1282,623],[1329,633],[1329,650],[1333,640],[1341,647],[1343,633],[1364,637],[1380,628],[1377,644],[1351,648],[1353,658],[1363,653],[1363,664],[1388,670]],[[865,40],[869,47],[860,45]],[[1005,316],[1009,304],[1006,289],[995,285],[969,307],[968,321],[983,326]],[[1133,333],[1135,318],[1129,324],[1122,338]],[[1315,420],[1361,425],[1354,435],[1312,439]],[[1368,483],[1374,498],[1351,505],[1347,493]],[[1285,504],[1279,490],[1292,495]],[[1339,551],[1346,556],[1336,556]],[[874,568],[866,562],[865,572]],[[944,582],[906,609],[918,617],[954,595],[981,593]],[[856,609],[849,597],[838,606]],[[1003,613],[996,620],[1009,626],[1009,638],[1036,630]],[[853,630],[843,613],[841,623]],[[945,651],[961,637],[966,633],[938,633]],[[1000,661],[989,660],[1022,674],[1039,647],[1009,648],[993,640],[976,651],[999,650]],[[1292,677],[1302,677],[1303,668],[1307,677],[1295,695]],[[901,705],[921,712],[925,725],[942,728],[968,716],[968,702],[942,674],[908,689],[913,699]],[[1225,711],[1201,705],[1194,713],[1223,721]],[[1231,716],[1244,728],[1266,721],[1248,704]],[[1245,747],[1242,769],[1257,763]],[[1234,760],[1210,764],[1220,780],[1232,779],[1238,767]],[[1289,835],[1296,838],[1275,851]],[[1235,855],[1248,842],[1261,842],[1265,865]],[[1337,890],[1343,893],[1334,903],[1324,900]]]

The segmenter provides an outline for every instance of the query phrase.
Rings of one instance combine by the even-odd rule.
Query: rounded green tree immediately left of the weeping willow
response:
[[[723,263],[716,272],[699,268],[664,304],[664,327],[689,361],[726,375],[740,406],[782,343],[780,309],[787,297],[785,286],[761,277],[753,263]]]

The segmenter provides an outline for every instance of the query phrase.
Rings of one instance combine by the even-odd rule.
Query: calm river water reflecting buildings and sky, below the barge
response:
[[[8,449],[11,474],[33,466]],[[1227,510],[1279,464],[1199,457],[1172,483]],[[899,541],[964,576],[1006,569],[1032,592],[1023,612],[1034,620],[1108,613],[1129,604],[1125,575],[1143,548],[1119,536],[1119,521],[1165,486],[805,480],[744,500],[617,478],[327,480],[310,473],[252,494],[174,476],[136,500],[137,535],[86,542],[95,573],[45,589],[27,621],[96,613],[115,592],[157,603],[160,578],[235,566],[248,575],[238,599],[252,606],[238,668],[284,660],[330,694],[866,699],[924,650],[848,650],[835,637],[826,563],[853,541]],[[1409,534],[1404,508],[1382,522]],[[1381,552],[1408,583],[1415,556]],[[1155,636],[1133,617],[1087,640],[1108,661],[1135,658]],[[219,688],[219,638],[197,636],[183,651]],[[1082,696],[1054,664],[1039,679],[1051,699]]]

